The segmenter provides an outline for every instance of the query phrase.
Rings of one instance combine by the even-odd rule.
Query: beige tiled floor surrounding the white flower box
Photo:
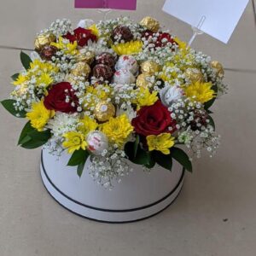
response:
[[[161,11],[163,0],[138,0],[136,12],[152,15],[183,40],[189,26]],[[74,24],[100,20],[96,10],[73,9],[71,0],[1,1],[0,44],[31,48],[35,34],[56,18]],[[202,35],[201,49],[224,67],[256,69],[256,27],[251,3],[225,45]],[[20,70],[19,51],[0,49],[0,99]],[[160,215],[136,224],[98,224],[58,206],[39,176],[39,149],[16,148],[23,124],[0,108],[0,255],[255,255],[256,74],[226,72],[230,90],[212,108],[222,145],[209,159],[195,160],[178,200]]]

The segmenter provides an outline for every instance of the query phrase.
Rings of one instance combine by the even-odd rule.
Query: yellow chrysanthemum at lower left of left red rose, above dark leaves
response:
[[[26,118],[30,120],[33,128],[43,131],[48,120],[55,115],[55,111],[44,107],[44,102],[33,102],[32,110],[26,113]]]

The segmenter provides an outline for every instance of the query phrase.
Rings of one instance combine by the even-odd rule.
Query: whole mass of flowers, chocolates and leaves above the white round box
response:
[[[91,176],[107,187],[131,171],[127,160],[172,171],[174,159],[191,172],[192,154],[218,148],[210,107],[227,90],[223,67],[151,17],[81,20],[74,30],[56,20],[20,60],[2,102],[28,119],[18,144],[66,150],[79,176],[88,157]]]

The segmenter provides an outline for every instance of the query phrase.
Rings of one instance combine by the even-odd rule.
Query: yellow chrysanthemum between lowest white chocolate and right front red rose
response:
[[[133,127],[126,114],[122,114],[117,118],[110,118],[107,123],[101,126],[101,131],[108,137],[110,142],[122,147],[133,131]]]

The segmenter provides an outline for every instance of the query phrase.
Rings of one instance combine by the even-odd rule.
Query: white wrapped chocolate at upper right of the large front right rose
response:
[[[160,90],[160,100],[166,106],[169,107],[173,102],[176,102],[183,96],[183,90],[177,86],[166,86]]]

